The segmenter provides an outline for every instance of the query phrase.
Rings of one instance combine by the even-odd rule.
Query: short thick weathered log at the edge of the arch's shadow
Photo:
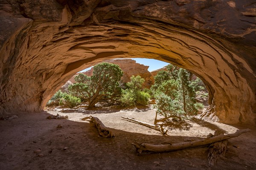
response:
[[[94,126],[97,127],[99,131],[99,135],[104,137],[104,138],[111,138],[115,137],[114,133],[111,130],[108,130],[105,125],[99,120],[97,117],[89,116],[89,117],[84,117],[82,120],[90,119]]]

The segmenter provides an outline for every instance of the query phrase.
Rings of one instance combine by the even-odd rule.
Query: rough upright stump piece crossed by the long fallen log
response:
[[[223,130],[216,130],[213,136],[218,136],[221,134],[224,134]],[[211,136],[211,133],[209,134],[209,136]],[[217,159],[225,156],[227,150],[227,142],[228,139],[222,140],[220,142],[215,142],[209,146],[208,165],[210,167],[215,164]]]

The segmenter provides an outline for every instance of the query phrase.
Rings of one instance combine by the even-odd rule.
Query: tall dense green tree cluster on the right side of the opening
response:
[[[174,65],[168,65],[154,77],[155,85],[151,91],[156,99],[157,113],[169,116],[187,116],[198,113],[202,105],[195,101],[195,90],[201,89],[201,79],[192,81],[192,73]]]

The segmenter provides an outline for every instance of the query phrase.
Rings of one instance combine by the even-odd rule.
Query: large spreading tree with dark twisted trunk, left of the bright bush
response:
[[[121,95],[119,81],[123,71],[116,64],[102,62],[93,67],[93,75],[76,76],[77,83],[69,86],[73,96],[88,101],[88,108],[93,108],[99,101],[115,102]]]

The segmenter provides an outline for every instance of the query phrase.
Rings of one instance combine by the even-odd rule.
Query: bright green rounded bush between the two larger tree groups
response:
[[[123,107],[148,105],[150,95],[142,89],[142,84],[144,81],[145,80],[140,76],[131,77],[131,81],[126,84],[128,88],[122,90],[120,103]]]

